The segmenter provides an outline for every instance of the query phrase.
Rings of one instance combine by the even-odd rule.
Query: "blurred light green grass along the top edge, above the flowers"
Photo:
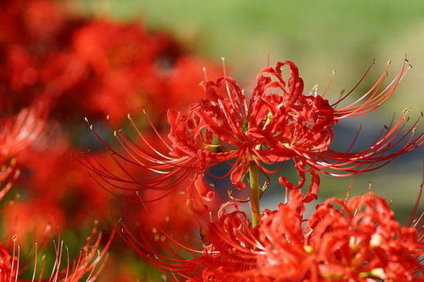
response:
[[[332,69],[344,73],[336,85],[351,85],[374,58],[411,61],[419,54],[394,45],[424,24],[420,1],[84,1],[88,11],[142,20],[188,41],[197,53],[228,59],[236,75],[254,77],[267,54],[297,62],[307,85],[325,82]],[[380,58],[381,57],[381,58]]]

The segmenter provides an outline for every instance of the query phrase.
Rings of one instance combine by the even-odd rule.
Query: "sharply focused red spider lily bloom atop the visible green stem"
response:
[[[286,65],[291,72],[287,82],[283,78],[283,66]],[[276,68],[264,68],[258,75],[249,103],[232,78],[206,82],[208,99],[192,106],[187,116],[172,114],[169,118],[170,155],[182,161],[187,161],[187,157],[198,158],[206,161],[203,166],[233,159],[231,180],[240,189],[245,187],[245,174],[252,162],[264,173],[273,173],[275,171],[269,171],[264,164],[293,159],[300,176],[298,185],[293,185],[285,177],[281,177],[280,182],[289,189],[300,189],[305,184],[305,173],[309,172],[312,181],[305,194],[305,202],[309,202],[317,197],[317,171],[341,176],[333,172],[336,171],[351,176],[387,164],[423,144],[423,134],[414,137],[416,123],[402,133],[406,121],[404,113],[368,149],[359,152],[329,149],[332,128],[338,120],[377,109],[396,90],[408,68],[405,62],[398,75],[385,87],[383,81],[387,75],[384,70],[368,92],[341,109],[335,109],[335,106],[353,90],[332,105],[319,95],[305,95],[303,80],[291,61],[277,63]],[[222,88],[225,88],[227,97],[219,94],[218,90]],[[396,152],[390,151],[396,147],[399,148]],[[216,152],[217,149],[223,152]]]

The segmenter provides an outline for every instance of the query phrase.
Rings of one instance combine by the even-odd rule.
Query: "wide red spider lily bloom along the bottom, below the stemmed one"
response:
[[[309,219],[304,211],[293,190],[252,228],[245,212],[225,204],[202,232],[203,250],[167,237],[168,256],[148,255],[151,247],[122,227],[124,239],[175,281],[424,281],[420,221],[402,227],[381,197],[331,198]]]

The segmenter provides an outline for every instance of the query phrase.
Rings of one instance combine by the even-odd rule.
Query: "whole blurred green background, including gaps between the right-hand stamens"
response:
[[[376,113],[343,121],[336,132],[341,135],[335,140],[338,148],[343,143],[348,147],[358,123],[364,128],[359,146],[366,145],[395,112],[411,107],[414,119],[424,110],[423,1],[81,0],[77,8],[167,30],[216,63],[225,57],[229,72],[247,90],[268,54],[272,62],[295,61],[306,90],[317,84],[323,90],[336,70],[327,96],[333,101],[341,90],[355,85],[372,59],[375,67],[357,96],[374,84],[388,60],[389,78],[396,75],[407,54],[413,70],[394,97]],[[397,216],[404,219],[418,195],[423,160],[424,150],[419,149],[378,171],[355,176],[353,194],[367,191],[371,181],[372,190],[394,199]],[[320,200],[343,197],[348,183],[349,178],[322,176]]]

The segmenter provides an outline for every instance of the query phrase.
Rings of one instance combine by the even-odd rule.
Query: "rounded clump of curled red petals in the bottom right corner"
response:
[[[387,202],[372,193],[347,202],[326,200],[307,221],[305,233],[305,245],[324,278],[424,281],[421,228],[401,227]]]

